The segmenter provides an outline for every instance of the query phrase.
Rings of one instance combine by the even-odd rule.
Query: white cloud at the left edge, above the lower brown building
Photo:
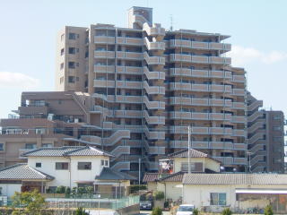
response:
[[[0,87],[13,87],[35,89],[39,86],[39,80],[23,73],[0,72]]]

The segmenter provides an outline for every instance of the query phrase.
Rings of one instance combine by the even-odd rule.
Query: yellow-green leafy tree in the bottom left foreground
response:
[[[41,210],[45,207],[45,198],[34,190],[33,192],[15,192],[12,196],[13,215],[41,215]],[[15,210],[15,208],[23,208]]]

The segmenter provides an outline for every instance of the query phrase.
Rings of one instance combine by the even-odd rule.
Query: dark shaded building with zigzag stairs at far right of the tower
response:
[[[248,92],[248,169],[251,172],[283,173],[283,111],[265,110],[262,106],[263,101]]]

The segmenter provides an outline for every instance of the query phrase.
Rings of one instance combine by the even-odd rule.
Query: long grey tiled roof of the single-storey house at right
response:
[[[286,174],[185,174],[186,185],[287,185]]]

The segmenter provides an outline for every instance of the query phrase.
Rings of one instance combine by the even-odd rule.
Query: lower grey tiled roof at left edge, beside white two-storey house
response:
[[[15,164],[13,166],[0,169],[0,180],[53,180],[53,176],[48,176],[28,164]]]

